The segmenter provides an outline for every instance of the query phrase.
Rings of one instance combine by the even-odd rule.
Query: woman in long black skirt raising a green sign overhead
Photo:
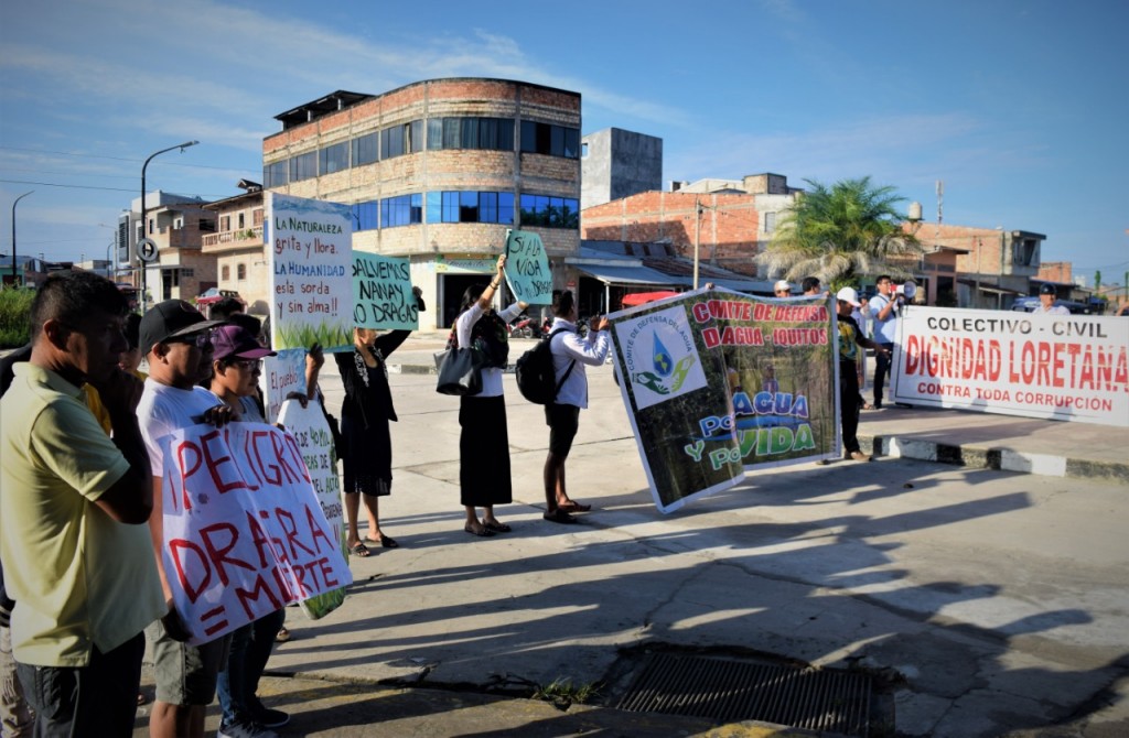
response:
[[[502,371],[509,358],[506,324],[522,314],[524,302],[514,302],[505,310],[491,306],[501,285],[506,255],[498,257],[497,274],[489,284],[472,284],[463,293],[463,302],[448,348],[474,346],[482,354],[482,392],[458,398],[460,499],[466,509],[463,530],[488,537],[509,533],[509,526],[495,517],[496,504],[514,501],[509,478],[509,434],[506,429],[506,398],[502,396]],[[476,508],[482,508],[479,519]]]

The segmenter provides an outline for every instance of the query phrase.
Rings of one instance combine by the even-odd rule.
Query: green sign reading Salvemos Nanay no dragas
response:
[[[353,323],[359,328],[415,331],[420,310],[406,258],[353,252]]]

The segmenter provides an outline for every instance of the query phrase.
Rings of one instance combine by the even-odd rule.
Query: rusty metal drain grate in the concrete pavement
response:
[[[653,654],[616,705],[632,712],[760,720],[865,738],[870,677],[749,661]]]

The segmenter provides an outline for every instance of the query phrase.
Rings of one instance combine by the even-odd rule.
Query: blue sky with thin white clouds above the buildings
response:
[[[581,133],[663,139],[671,181],[869,176],[936,221],[1129,272],[1129,2],[5,0],[0,253],[105,258],[150,191],[262,182],[279,113],[444,77],[580,93]],[[927,235],[928,231],[926,231]]]

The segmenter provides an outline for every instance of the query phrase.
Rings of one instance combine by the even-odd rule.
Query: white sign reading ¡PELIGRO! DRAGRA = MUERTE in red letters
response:
[[[161,559],[192,643],[352,582],[301,449],[273,425],[174,432],[161,495]]]

